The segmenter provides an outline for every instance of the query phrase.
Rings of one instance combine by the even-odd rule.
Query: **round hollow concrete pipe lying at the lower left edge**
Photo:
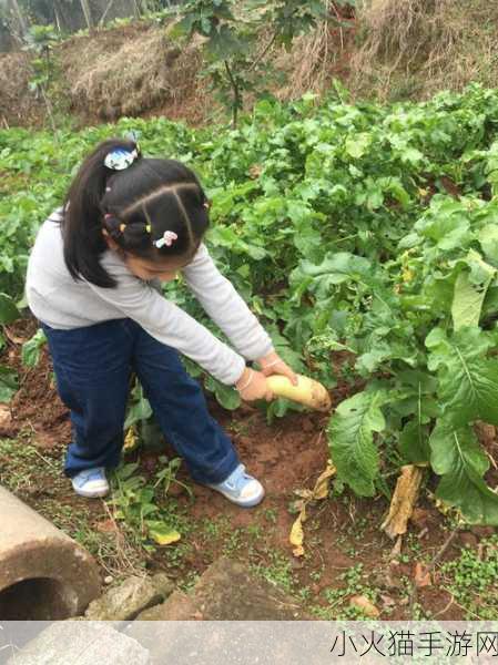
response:
[[[93,557],[0,487],[0,620],[68,618],[99,592]]]

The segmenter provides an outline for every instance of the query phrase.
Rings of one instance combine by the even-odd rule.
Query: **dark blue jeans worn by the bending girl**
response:
[[[210,416],[201,387],[186,374],[175,349],[151,337],[132,319],[72,330],[41,326],[49,341],[58,392],[71,410],[73,439],[65,475],[119,464],[132,370],[164,437],[185,460],[194,480],[221,482],[238,464],[232,441]]]

